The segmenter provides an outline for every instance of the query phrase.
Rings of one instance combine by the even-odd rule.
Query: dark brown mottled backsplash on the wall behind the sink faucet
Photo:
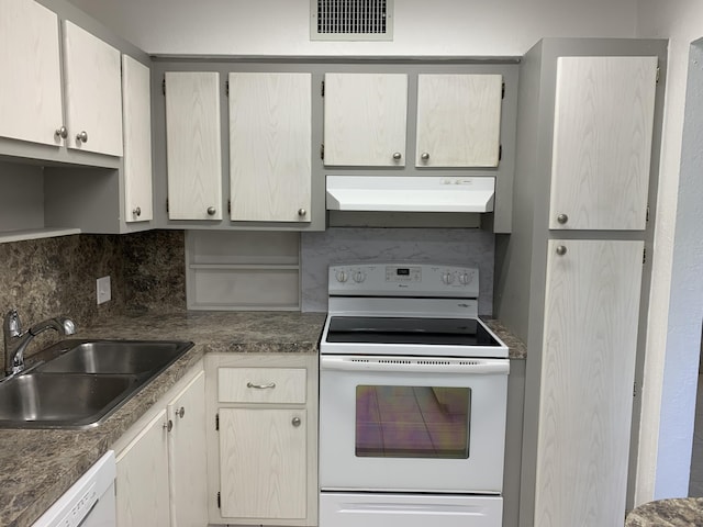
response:
[[[0,312],[16,309],[24,328],[64,314],[78,328],[113,315],[186,310],[182,231],[80,234],[0,244]],[[110,276],[112,300],[98,305],[96,279]],[[27,356],[57,340],[40,335]],[[4,357],[0,357],[4,368]]]

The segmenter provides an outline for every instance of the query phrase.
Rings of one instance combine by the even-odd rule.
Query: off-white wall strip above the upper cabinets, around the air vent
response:
[[[310,41],[310,0],[71,0],[154,54],[522,55],[543,36],[634,36],[636,0],[395,0],[393,42]]]

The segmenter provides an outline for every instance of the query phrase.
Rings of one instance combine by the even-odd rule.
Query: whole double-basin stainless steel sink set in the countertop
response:
[[[0,381],[0,428],[89,428],[193,346],[170,340],[63,340]]]

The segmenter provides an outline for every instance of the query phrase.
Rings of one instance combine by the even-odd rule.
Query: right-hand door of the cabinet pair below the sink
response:
[[[208,524],[205,373],[201,371],[167,407],[172,527]]]

